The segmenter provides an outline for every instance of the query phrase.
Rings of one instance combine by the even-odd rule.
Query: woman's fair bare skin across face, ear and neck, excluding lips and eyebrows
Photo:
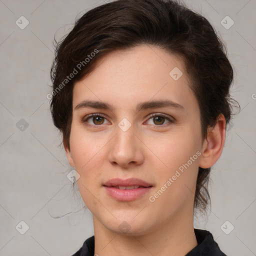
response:
[[[174,67],[183,72],[178,80],[169,75]],[[75,109],[87,99],[111,104],[114,110]],[[135,110],[137,103],[165,99],[183,108]],[[105,118],[83,122],[91,113]],[[166,114],[172,122],[149,119],[152,113]],[[93,214],[94,253],[177,256],[195,247],[193,200],[198,166],[210,167],[219,158],[225,119],[220,115],[202,139],[199,106],[182,59],[152,45],[108,53],[92,73],[74,84],[72,114],[70,148],[65,150],[69,164],[80,175],[79,192]],[[123,118],[131,124],[125,132],[118,126]],[[197,159],[150,202],[149,196],[197,151]],[[140,178],[153,187],[140,198],[118,201],[102,186],[114,177]],[[130,228],[127,233],[119,229],[123,221]]]

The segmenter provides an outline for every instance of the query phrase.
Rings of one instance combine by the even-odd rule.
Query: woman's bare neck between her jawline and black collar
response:
[[[191,214],[190,214],[191,215]],[[107,229],[93,215],[94,254],[100,256],[170,255],[183,256],[197,245],[193,215],[178,214],[145,234],[122,234]]]

